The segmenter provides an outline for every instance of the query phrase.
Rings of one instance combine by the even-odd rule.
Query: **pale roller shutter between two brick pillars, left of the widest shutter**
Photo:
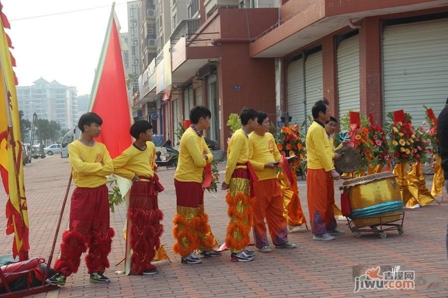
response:
[[[337,47],[337,95],[339,118],[359,111],[359,35],[342,40]]]

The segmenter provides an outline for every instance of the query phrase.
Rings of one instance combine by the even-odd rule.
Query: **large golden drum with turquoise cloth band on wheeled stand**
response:
[[[348,190],[350,215],[356,227],[390,223],[400,219],[403,201],[392,172],[362,176],[344,181]],[[388,217],[385,217],[388,216]]]

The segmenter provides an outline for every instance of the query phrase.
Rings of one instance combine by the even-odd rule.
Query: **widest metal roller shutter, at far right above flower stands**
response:
[[[448,94],[448,19],[384,28],[383,89],[384,115],[404,109],[420,126],[423,105],[440,113]]]

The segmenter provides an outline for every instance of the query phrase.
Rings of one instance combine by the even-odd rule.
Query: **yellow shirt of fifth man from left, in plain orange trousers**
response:
[[[249,134],[249,147],[249,161],[258,176],[258,180],[277,178],[275,168],[264,168],[265,163],[279,161],[282,158],[275,144],[274,136],[270,133],[259,136],[252,132]]]

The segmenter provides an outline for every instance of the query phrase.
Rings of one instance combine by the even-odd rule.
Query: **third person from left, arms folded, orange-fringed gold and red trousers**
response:
[[[212,163],[213,155],[202,135],[210,127],[212,113],[204,106],[195,106],[190,111],[191,126],[182,135],[179,159],[174,174],[177,214],[174,217],[173,250],[181,256],[184,264],[202,263],[195,255],[201,250],[203,257],[220,256],[214,248],[218,245],[204,211],[203,172]]]

